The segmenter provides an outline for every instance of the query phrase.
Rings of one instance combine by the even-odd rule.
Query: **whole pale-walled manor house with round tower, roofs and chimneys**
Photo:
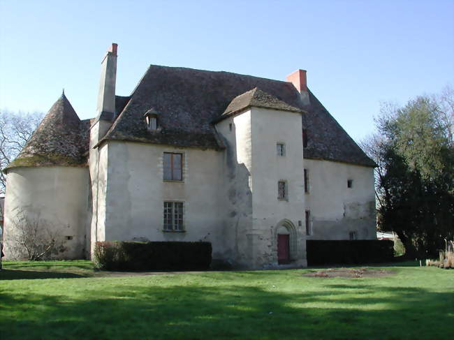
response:
[[[64,94],[7,172],[4,242],[18,214],[89,258],[96,241],[207,241],[213,263],[307,265],[307,239],[374,239],[374,162],[307,87],[149,66],[117,96],[117,44],[94,119]],[[16,251],[16,252],[14,252]]]

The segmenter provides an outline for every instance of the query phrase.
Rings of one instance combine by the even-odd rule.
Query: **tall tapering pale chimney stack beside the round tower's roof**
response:
[[[112,43],[101,61],[101,81],[98,92],[98,119],[113,121],[115,117],[115,82],[117,80],[117,47]]]

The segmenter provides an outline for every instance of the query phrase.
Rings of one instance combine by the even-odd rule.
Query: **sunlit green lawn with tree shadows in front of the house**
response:
[[[5,262],[0,339],[451,339],[454,270],[386,269],[326,279],[302,276],[314,269],[127,275],[83,260]]]

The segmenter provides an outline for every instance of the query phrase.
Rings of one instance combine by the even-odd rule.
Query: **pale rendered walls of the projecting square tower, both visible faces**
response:
[[[216,127],[227,146],[224,207],[235,265],[277,266],[277,228],[283,221],[296,230],[293,265],[306,265],[301,114],[251,108]],[[277,156],[277,142],[285,143],[286,156]],[[277,199],[280,179],[291,188],[285,201]]]

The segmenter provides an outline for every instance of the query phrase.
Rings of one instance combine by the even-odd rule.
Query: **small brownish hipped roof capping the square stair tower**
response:
[[[256,108],[302,112],[301,109],[295,108],[292,105],[288,105],[276,96],[267,94],[258,87],[254,87],[254,89],[251,89],[250,91],[244,92],[244,94],[240,94],[240,96],[233,98],[230,104],[228,104],[222,116],[229,116],[230,114],[234,114],[235,112],[239,112],[241,110],[244,110],[245,108],[250,108],[251,106],[254,106]]]

